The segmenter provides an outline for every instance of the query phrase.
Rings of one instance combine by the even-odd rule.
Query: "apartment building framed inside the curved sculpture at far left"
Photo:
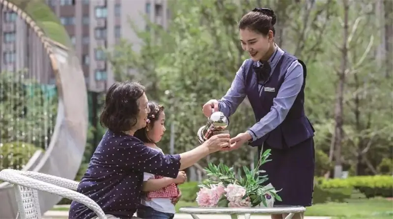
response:
[[[0,72],[23,71],[25,79],[54,84],[50,59],[34,30],[2,4],[0,13]]]

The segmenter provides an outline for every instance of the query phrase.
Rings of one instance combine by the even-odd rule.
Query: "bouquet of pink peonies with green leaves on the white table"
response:
[[[274,200],[281,201],[275,188],[263,183],[268,180],[267,175],[260,175],[266,171],[259,167],[270,156],[270,149],[260,155],[258,164],[250,170],[243,166],[243,172],[239,171],[236,176],[233,167],[225,164],[209,164],[205,168],[209,177],[201,185],[197,192],[197,203],[200,207],[273,207]],[[263,204],[263,206],[261,205]]]

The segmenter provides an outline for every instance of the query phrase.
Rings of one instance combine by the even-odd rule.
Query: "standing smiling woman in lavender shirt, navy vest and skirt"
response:
[[[276,15],[269,8],[255,8],[239,22],[240,42],[251,58],[243,62],[231,87],[221,100],[210,100],[203,113],[212,109],[232,115],[247,96],[256,123],[231,138],[234,150],[243,143],[258,151],[271,149],[271,162],[262,166],[267,183],[282,189],[282,202],[275,205],[311,206],[314,178],[314,129],[304,112],[306,65],[273,41]],[[283,219],[285,215],[272,215]],[[294,219],[302,219],[303,214]]]

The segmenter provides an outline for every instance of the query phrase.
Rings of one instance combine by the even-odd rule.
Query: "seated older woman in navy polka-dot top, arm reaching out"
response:
[[[130,219],[140,205],[143,172],[176,178],[179,170],[221,150],[229,135],[217,135],[193,150],[163,155],[133,137],[146,126],[147,97],[135,82],[114,83],[108,90],[100,122],[108,128],[95,150],[79,184],[78,192],[93,199],[109,218]],[[71,203],[70,219],[97,217],[76,201]]]

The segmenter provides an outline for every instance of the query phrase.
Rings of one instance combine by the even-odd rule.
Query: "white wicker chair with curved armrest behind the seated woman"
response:
[[[72,200],[76,200],[84,204],[91,210],[93,210],[99,219],[107,219],[105,213],[100,208],[100,206],[96,202],[94,202],[91,198],[79,192],[72,191],[71,189],[64,188],[65,186],[68,186],[70,188],[75,188],[74,183],[64,184],[63,182],[67,180],[55,176],[45,178],[46,180],[49,181],[56,178],[61,179],[60,181],[53,180],[52,182],[57,184],[57,185],[53,185],[26,176],[27,174],[30,174],[30,176],[34,176],[34,177],[38,177],[38,176],[43,177],[42,174],[34,174],[31,172],[21,173],[21,172],[23,171],[18,171],[13,169],[3,169],[0,171],[0,180],[15,185],[15,195],[18,204],[19,218],[41,219],[42,216],[39,207],[37,191],[43,191],[43,192],[56,194],[62,197],[66,197]],[[58,184],[64,185],[64,187],[58,186]]]

